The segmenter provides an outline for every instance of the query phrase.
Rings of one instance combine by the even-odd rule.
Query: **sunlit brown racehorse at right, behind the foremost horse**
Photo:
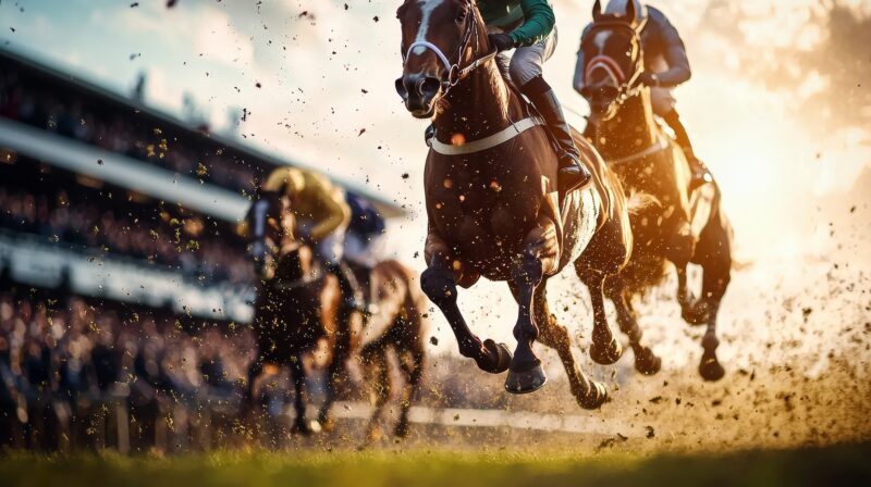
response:
[[[649,289],[665,275],[665,263],[677,270],[677,299],[684,320],[707,323],[699,373],[708,380],[724,375],[716,359],[716,315],[729,283],[732,226],[720,208],[716,183],[688,192],[690,172],[683,150],[653,118],[650,89],[636,82],[643,72],[639,26],[633,25],[634,2],[626,15],[605,15],[597,0],[593,24],[581,40],[587,60],[587,86],[593,145],[628,191],[643,191],[659,204],[631,216],[635,248],[629,265],[610,279],[610,297],[621,322],[635,323],[631,291]],[[702,292],[687,289],[687,265],[703,269]],[[612,284],[613,283],[613,284]],[[631,326],[631,325],[629,325]]]

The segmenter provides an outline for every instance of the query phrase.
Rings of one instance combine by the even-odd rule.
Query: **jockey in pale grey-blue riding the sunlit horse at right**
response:
[[[642,4],[639,0],[611,0],[605,8],[605,13],[625,14],[627,1],[635,3],[636,25],[642,25],[640,36],[645,53],[645,73],[641,75],[640,82],[650,87],[653,113],[672,127],[677,143],[684,149],[692,172],[692,182],[690,183],[690,190],[692,190],[712,179],[708,167],[692,151],[689,135],[684,128],[684,124],[680,123],[680,115],[674,108],[675,99],[672,88],[689,80],[691,74],[684,41],[665,14],[658,9]],[[590,25],[584,29],[584,34],[587,34]],[[574,82],[575,90],[578,92],[581,91],[586,82],[585,71],[584,51],[578,51]],[[588,124],[585,135],[590,133],[590,128]]]

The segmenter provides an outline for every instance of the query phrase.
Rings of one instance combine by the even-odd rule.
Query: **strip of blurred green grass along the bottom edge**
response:
[[[0,460],[13,486],[839,486],[871,485],[871,444],[781,451],[661,454],[476,451],[285,451]]]

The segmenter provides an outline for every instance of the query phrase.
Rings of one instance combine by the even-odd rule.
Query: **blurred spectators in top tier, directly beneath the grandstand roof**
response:
[[[13,66],[2,67],[0,116],[231,189],[254,188],[257,172],[213,142],[176,145],[176,136],[186,140],[192,136],[173,134],[173,128],[158,122],[146,123],[149,118],[131,113],[131,109],[106,109],[73,90],[40,86],[23,79]]]

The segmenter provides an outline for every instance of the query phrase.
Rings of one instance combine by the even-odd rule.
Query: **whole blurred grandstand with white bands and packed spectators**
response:
[[[135,449],[133,414],[148,448],[167,408],[225,407],[252,349],[235,229],[285,164],[0,50],[0,445]]]

